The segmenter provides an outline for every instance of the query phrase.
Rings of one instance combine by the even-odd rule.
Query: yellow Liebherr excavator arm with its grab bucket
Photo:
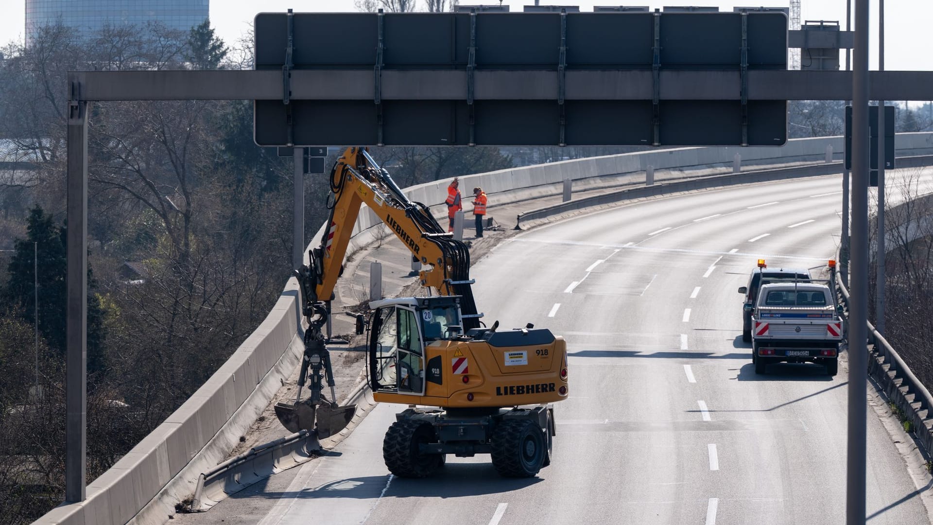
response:
[[[445,232],[427,206],[411,202],[366,149],[347,148],[334,163],[329,184],[327,229],[321,244],[308,254],[309,263],[295,271],[301,288],[301,311],[308,320],[298,396],[295,404],[275,405],[275,413],[286,429],[293,433],[315,430],[318,437],[340,432],[355,414],[355,405],[336,404],[330,354],[321,329],[329,319],[334,287],[343,272],[343,258],[363,205],[369,206],[422,263],[419,276],[422,286],[440,295],[460,296],[464,333],[479,328],[481,317],[470,288],[473,281],[469,278],[466,245]],[[330,387],[329,402],[322,396],[322,379]],[[300,401],[301,390],[308,380],[311,397]]]

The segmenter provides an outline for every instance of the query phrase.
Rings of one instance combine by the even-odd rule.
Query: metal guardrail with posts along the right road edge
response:
[[[898,167],[901,167],[899,161]],[[840,261],[839,255],[837,250],[837,261]],[[842,296],[842,304],[845,306],[846,314],[848,314],[849,291],[845,287],[845,283],[842,282],[842,264],[836,265],[834,280],[836,289]],[[911,422],[912,432],[926,447],[926,450],[933,450],[933,429],[931,429],[930,424],[926,423],[926,419],[933,416],[933,395],[930,394],[930,391],[926,389],[920,379],[913,375],[911,367],[901,359],[898,352],[884,338],[884,335],[878,333],[870,322],[868,322],[868,330],[868,343],[871,346],[869,350],[869,375],[874,377],[884,388],[884,393],[887,394],[888,399],[898,406],[903,418]]]

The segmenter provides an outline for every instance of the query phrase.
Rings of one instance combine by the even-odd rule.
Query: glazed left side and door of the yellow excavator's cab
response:
[[[415,312],[404,306],[379,308],[370,346],[373,387],[398,393],[425,393],[424,342]]]

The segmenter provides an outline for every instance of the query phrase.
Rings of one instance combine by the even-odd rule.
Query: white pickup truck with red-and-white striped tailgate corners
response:
[[[826,284],[765,284],[752,316],[752,362],[764,374],[773,362],[815,362],[839,371],[843,320]]]

